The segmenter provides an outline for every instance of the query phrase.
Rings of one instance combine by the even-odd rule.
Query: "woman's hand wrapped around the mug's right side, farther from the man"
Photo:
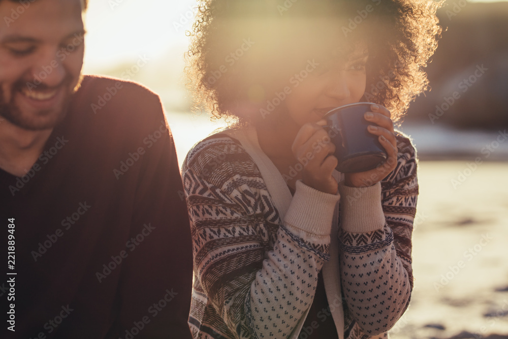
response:
[[[388,158],[377,168],[359,173],[344,173],[344,183],[350,187],[367,187],[383,180],[397,165],[397,141],[393,132],[393,121],[388,109],[381,105],[372,105],[372,112],[365,113],[365,119],[372,122],[368,130],[377,135],[381,145],[385,148]],[[372,116],[369,116],[369,113]],[[377,125],[377,126],[375,126]]]

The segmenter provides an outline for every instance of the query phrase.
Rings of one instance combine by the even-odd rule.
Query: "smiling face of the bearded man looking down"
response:
[[[26,130],[53,128],[79,86],[80,0],[0,1],[0,116]]]

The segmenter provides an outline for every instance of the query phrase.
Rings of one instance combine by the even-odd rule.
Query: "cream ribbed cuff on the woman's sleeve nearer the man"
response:
[[[339,194],[318,191],[298,180],[285,222],[308,233],[330,235],[333,211],[339,199]]]

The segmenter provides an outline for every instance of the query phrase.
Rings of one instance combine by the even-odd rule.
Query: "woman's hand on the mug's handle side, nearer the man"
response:
[[[335,145],[331,143],[323,126],[325,120],[308,123],[301,127],[293,142],[292,151],[295,158],[302,163],[302,181],[316,190],[336,194],[337,180],[332,172],[337,166],[333,156]]]

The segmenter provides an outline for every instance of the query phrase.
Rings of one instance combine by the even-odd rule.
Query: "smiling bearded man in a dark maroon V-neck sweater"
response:
[[[81,76],[80,0],[0,0],[2,338],[187,338],[192,251],[159,98]]]

